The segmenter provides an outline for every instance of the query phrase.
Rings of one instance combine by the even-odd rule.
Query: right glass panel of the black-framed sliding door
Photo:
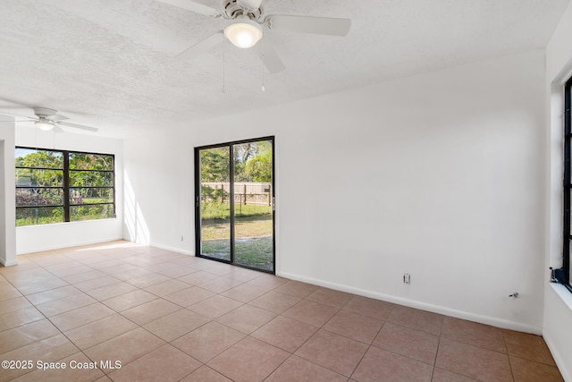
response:
[[[272,140],[232,146],[234,263],[273,272]]]

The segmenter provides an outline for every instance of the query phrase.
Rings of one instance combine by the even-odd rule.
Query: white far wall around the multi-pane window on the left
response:
[[[114,219],[17,227],[16,250],[18,254],[95,242],[108,242],[122,238],[122,140],[70,132],[55,134],[54,132],[41,132],[35,128],[17,126],[16,146],[114,154],[115,210],[117,215],[117,218]]]

